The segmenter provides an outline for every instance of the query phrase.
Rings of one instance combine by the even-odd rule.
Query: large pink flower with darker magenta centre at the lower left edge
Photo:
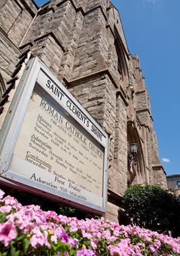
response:
[[[4,246],[8,246],[10,242],[17,236],[14,223],[1,223],[0,225],[0,241],[4,242]]]

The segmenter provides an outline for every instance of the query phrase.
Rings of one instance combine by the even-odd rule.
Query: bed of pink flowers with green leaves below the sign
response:
[[[0,190],[0,256],[180,255],[180,238],[104,218],[78,221],[3,195]]]

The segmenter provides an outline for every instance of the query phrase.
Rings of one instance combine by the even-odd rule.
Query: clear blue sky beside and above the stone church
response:
[[[36,0],[37,5],[46,0]],[[180,0],[112,0],[151,98],[153,128],[167,175],[179,174]]]

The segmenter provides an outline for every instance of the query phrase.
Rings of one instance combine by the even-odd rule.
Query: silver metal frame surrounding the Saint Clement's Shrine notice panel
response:
[[[50,81],[53,81],[55,86],[59,89],[60,94],[56,95],[52,90],[48,91],[50,87],[44,87],[45,85],[43,83],[43,76],[46,78],[48,77]],[[31,98],[32,91],[34,87],[37,86],[37,84],[39,87],[44,89],[44,91],[46,91],[47,96],[50,96],[57,102],[59,100],[58,98],[63,98],[62,95],[67,99],[70,99],[70,102],[73,102],[74,104],[74,109],[77,108],[80,111],[79,117],[82,117],[82,115],[84,115],[84,117],[75,117],[74,113],[76,113],[76,111],[73,111],[72,107],[67,107],[65,111],[67,111],[68,115],[71,115],[74,119],[76,119],[78,126],[81,126],[82,129],[88,132],[90,136],[104,148],[104,167],[102,170],[103,191],[101,205],[97,205],[92,201],[85,201],[67,193],[63,193],[60,190],[50,188],[44,184],[37,184],[37,182],[34,180],[30,180],[28,177],[20,175],[12,171],[10,168],[14,147],[16,146],[16,142],[18,140],[18,134],[20,132],[21,126],[23,125],[25,114],[27,113],[27,107]],[[65,105],[63,105],[64,103],[61,102],[61,100],[59,100],[59,104],[61,104],[61,108],[65,108]],[[92,124],[92,126],[87,126],[87,120],[90,124]],[[91,127],[93,127],[93,129],[90,130]],[[20,165],[23,165],[23,162],[20,163]],[[74,96],[72,96],[72,94],[67,91],[62,83],[52,74],[52,72],[50,72],[50,70],[48,70],[48,68],[46,68],[44,63],[42,63],[38,57],[30,59],[27,63],[22,78],[20,79],[20,83],[17,87],[16,93],[10,105],[10,109],[1,129],[0,182],[2,184],[9,184],[9,186],[14,188],[31,191],[37,195],[44,195],[44,197],[48,199],[53,199],[54,201],[65,203],[80,210],[85,210],[87,212],[93,212],[96,214],[104,214],[106,212],[107,201],[107,168],[108,134],[100,127],[99,124],[97,124],[97,122],[95,122],[91,115],[87,113],[87,111],[79,104],[76,98],[74,98]]]

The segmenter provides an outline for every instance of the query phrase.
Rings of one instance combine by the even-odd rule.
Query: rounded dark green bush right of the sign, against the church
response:
[[[130,186],[123,197],[123,208],[134,225],[180,236],[180,200],[159,186]]]

